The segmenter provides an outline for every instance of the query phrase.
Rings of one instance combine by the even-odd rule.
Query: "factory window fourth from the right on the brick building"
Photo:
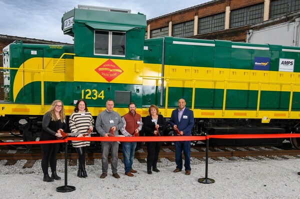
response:
[[[172,36],[174,37],[186,37],[191,35],[193,35],[193,20],[172,26]]]

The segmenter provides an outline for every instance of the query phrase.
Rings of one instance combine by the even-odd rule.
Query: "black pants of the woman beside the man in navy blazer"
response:
[[[160,141],[147,142],[147,170],[157,167],[158,154],[161,146]]]

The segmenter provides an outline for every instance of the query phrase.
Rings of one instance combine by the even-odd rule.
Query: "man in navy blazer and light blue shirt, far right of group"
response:
[[[174,109],[171,114],[170,124],[175,130],[178,128],[180,135],[190,136],[191,129],[194,125],[193,111],[185,107],[185,100],[178,100],[178,108]],[[174,132],[175,136],[177,133]],[[179,172],[182,169],[182,150],[184,154],[185,174],[190,174],[190,141],[175,141],[175,162],[176,169],[173,172]]]

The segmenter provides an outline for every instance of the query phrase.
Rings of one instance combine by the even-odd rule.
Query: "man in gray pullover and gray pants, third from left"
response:
[[[100,112],[96,119],[96,129],[100,136],[108,137],[110,134],[109,129],[113,130],[114,134],[118,134],[118,130],[123,126],[122,118],[119,113],[112,110],[114,106],[112,99],[107,99],[106,109]],[[116,141],[101,141],[101,161],[102,161],[102,174],[100,178],[107,176],[108,169],[108,152],[111,148],[111,170],[112,176],[120,178],[117,174],[117,153],[118,153],[118,142]]]

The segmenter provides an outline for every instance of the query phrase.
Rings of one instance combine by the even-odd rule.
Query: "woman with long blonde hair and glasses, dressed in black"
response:
[[[42,117],[42,131],[40,140],[56,140],[56,137],[62,137],[59,129],[66,129],[65,114],[61,100],[54,100],[50,109]],[[41,168],[43,172],[43,181],[53,181],[60,179],[56,173],[56,153],[59,149],[59,143],[41,144]],[[48,174],[48,165],[51,168],[51,177]]]

